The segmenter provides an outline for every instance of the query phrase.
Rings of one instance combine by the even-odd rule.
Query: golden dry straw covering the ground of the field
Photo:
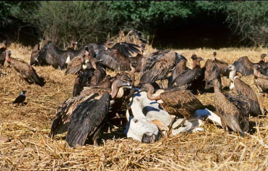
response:
[[[30,61],[31,48],[11,44],[8,49],[13,57]],[[213,51],[176,50],[188,59],[190,67],[193,53],[207,59]],[[262,52],[250,48],[219,49],[217,58],[231,63],[248,55],[251,61],[257,62]],[[202,66],[204,63],[202,61]],[[125,118],[122,118],[107,121],[96,147],[69,148],[64,135],[58,135],[52,141],[48,133],[55,109],[61,101],[72,96],[75,76],[65,76],[64,70],[51,66],[34,68],[45,78],[45,86],[19,82],[14,70],[0,68],[7,74],[0,77],[0,137],[11,139],[11,142],[0,144],[0,170],[267,170],[266,116],[250,118],[250,134],[244,139],[206,122],[204,132],[182,133],[160,138],[154,144],[144,144],[124,137]],[[108,74],[114,76],[116,72],[108,71]],[[136,76],[137,84],[139,73]],[[242,80],[258,93],[252,76],[242,77]],[[229,79],[223,78],[223,86],[229,84]],[[22,90],[28,90],[26,105],[7,104]],[[212,93],[197,97],[204,105],[212,105],[210,109],[213,110]],[[260,103],[265,108],[268,101],[260,97]]]

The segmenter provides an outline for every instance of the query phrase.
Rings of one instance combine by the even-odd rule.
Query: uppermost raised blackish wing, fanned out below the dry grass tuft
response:
[[[122,53],[124,56],[132,57],[132,55],[129,53],[140,53],[140,50],[137,49],[140,48],[137,44],[127,43],[127,42],[119,42],[116,43],[111,49],[117,49],[120,53]]]

